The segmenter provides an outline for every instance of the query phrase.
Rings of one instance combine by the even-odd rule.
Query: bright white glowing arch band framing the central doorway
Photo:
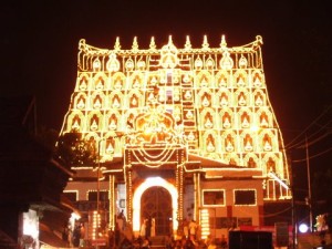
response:
[[[167,189],[172,197],[172,218],[173,218],[173,230],[177,229],[177,198],[178,193],[176,187],[163,179],[162,177],[149,177],[146,178],[144,183],[142,183],[135,190],[133,197],[133,231],[134,234],[139,234],[141,229],[141,198],[143,193],[151,187],[164,187]]]

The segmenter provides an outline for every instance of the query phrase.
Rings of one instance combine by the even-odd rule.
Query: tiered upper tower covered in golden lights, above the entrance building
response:
[[[118,38],[113,49],[81,40],[76,84],[61,134],[77,131],[94,141],[102,162],[123,157],[131,144],[178,144],[187,154],[260,169],[267,179],[288,186],[261,45],[259,35],[232,48],[224,35],[218,48],[210,48],[207,37],[201,48],[193,48],[189,37],[184,48],[176,48],[172,37],[158,48],[152,38],[147,49],[134,38],[127,50]],[[124,135],[114,139],[118,134]],[[276,189],[267,189],[264,199],[273,198]]]

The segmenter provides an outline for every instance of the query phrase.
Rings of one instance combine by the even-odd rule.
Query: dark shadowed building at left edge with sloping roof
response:
[[[37,136],[33,96],[0,105],[0,248],[65,247],[56,231],[74,210],[63,198],[73,172]]]

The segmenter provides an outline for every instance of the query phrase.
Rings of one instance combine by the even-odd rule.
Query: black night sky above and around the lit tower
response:
[[[172,34],[175,44],[183,48],[190,35],[198,48],[204,34],[210,46],[218,46],[222,34],[229,46],[262,35],[269,96],[286,144],[332,104],[332,14],[328,1],[39,0],[0,4],[0,93],[35,95],[39,125],[49,128],[60,131],[68,111],[80,39],[113,49],[120,37],[122,48],[131,49],[135,35],[139,48],[148,48],[155,37],[160,48]],[[319,125],[331,122],[331,116],[330,110]],[[326,151],[331,141],[330,135],[310,152]],[[312,159],[312,170],[331,167],[331,154]],[[302,152],[295,159],[303,156]]]

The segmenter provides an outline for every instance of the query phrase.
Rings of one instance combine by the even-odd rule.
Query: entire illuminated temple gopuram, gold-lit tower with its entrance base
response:
[[[135,235],[146,217],[156,235],[196,220],[201,238],[231,226],[263,226],[267,207],[289,201],[290,172],[261,54],[262,38],[228,46],[181,48],[173,38],[141,49],[81,40],[77,76],[61,135],[94,144],[95,165],[75,165],[65,195],[114,229],[122,210]],[[100,177],[97,177],[100,176]],[[98,203],[96,205],[96,203]],[[271,216],[271,214],[270,214]]]

